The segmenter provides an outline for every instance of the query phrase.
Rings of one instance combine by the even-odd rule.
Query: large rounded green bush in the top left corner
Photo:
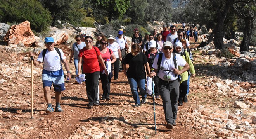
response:
[[[1,0],[1,22],[30,22],[31,29],[43,31],[52,23],[50,12],[37,0]]]

